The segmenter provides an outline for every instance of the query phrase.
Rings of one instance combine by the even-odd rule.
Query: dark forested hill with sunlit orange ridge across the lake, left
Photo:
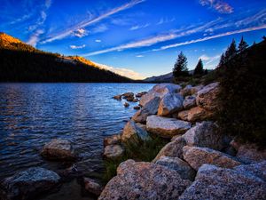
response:
[[[5,33],[0,33],[0,66],[0,82],[133,82],[90,60],[43,52]]]

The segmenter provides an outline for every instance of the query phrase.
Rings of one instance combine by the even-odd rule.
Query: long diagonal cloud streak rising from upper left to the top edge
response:
[[[59,40],[62,39],[66,36],[71,35],[75,30],[79,29],[79,28],[86,28],[92,24],[98,23],[100,20],[105,20],[106,18],[112,16],[115,13],[124,11],[126,9],[129,9],[137,4],[143,3],[145,2],[145,0],[131,0],[129,3],[127,4],[123,4],[120,7],[114,8],[113,10],[103,13],[101,15],[99,15],[97,18],[94,19],[89,19],[89,20],[83,20],[77,24],[74,24],[71,28],[67,28],[66,30],[60,32],[60,33],[56,33],[53,36],[49,36],[48,38],[44,39],[42,41],[42,44],[45,43],[49,43],[52,42],[54,40]]]

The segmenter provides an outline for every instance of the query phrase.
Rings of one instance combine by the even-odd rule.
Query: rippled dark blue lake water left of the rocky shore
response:
[[[87,172],[102,169],[103,139],[121,132],[136,110],[112,97],[153,84],[0,84],[0,179],[31,166],[58,171],[39,155],[44,143],[71,140]]]

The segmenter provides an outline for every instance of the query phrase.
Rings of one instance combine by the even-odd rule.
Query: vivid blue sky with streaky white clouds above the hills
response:
[[[265,0],[0,0],[0,31],[124,76],[172,71],[179,52],[215,68],[234,38],[266,35]]]

